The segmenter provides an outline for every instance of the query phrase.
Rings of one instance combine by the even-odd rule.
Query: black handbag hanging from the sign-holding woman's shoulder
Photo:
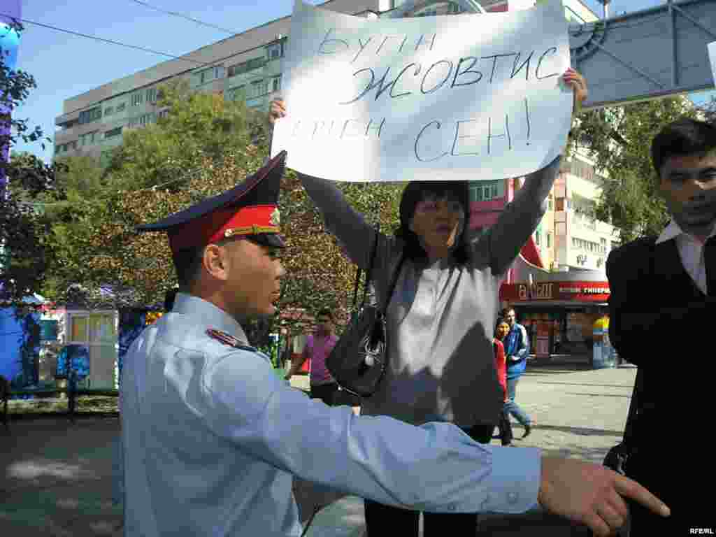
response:
[[[368,286],[373,276],[375,253],[378,246],[379,231],[376,228],[370,262],[366,272],[363,299],[356,309],[358,284],[361,271],[356,272],[353,291],[352,316],[348,326],[326,358],[326,367],[342,390],[359,397],[370,397],[377,390],[387,366],[387,326],[385,311],[395,289],[400,274],[402,258],[392,275],[388,292],[382,305],[366,304]]]

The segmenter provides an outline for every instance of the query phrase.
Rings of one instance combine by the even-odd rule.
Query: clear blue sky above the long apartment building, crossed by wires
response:
[[[290,15],[294,4],[294,0],[144,1],[237,33]],[[586,3],[601,15],[598,1],[586,0]],[[664,0],[612,0],[611,15],[663,3]],[[0,0],[0,11],[2,4]],[[23,19],[176,56],[230,36],[218,29],[153,11],[133,0],[22,0],[21,4]],[[17,67],[32,74],[38,87],[14,113],[16,117],[29,118],[32,126],[40,125],[50,138],[55,130],[54,118],[62,114],[62,100],[168,59],[29,23],[24,26]],[[32,151],[49,162],[52,144],[46,147],[43,151],[39,143],[34,143],[14,149]]]

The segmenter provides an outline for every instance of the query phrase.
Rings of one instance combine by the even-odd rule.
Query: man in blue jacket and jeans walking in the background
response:
[[[516,418],[525,427],[523,438],[532,432],[533,422],[527,412],[515,402],[517,383],[525,372],[527,356],[530,354],[530,339],[524,326],[516,322],[515,309],[508,307],[502,311],[510,325],[510,333],[505,337],[505,357],[507,359],[507,398],[505,412]]]

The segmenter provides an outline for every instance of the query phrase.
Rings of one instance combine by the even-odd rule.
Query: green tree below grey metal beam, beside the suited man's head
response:
[[[658,235],[669,220],[652,167],[652,139],[669,122],[697,114],[692,103],[679,96],[580,115],[571,150],[586,150],[604,176],[594,216],[615,226],[621,242]]]

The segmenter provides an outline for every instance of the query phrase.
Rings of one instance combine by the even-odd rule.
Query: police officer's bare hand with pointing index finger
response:
[[[542,458],[538,502],[551,513],[589,526],[597,536],[609,536],[624,526],[631,498],[661,516],[670,511],[636,481],[601,465],[576,459]]]

